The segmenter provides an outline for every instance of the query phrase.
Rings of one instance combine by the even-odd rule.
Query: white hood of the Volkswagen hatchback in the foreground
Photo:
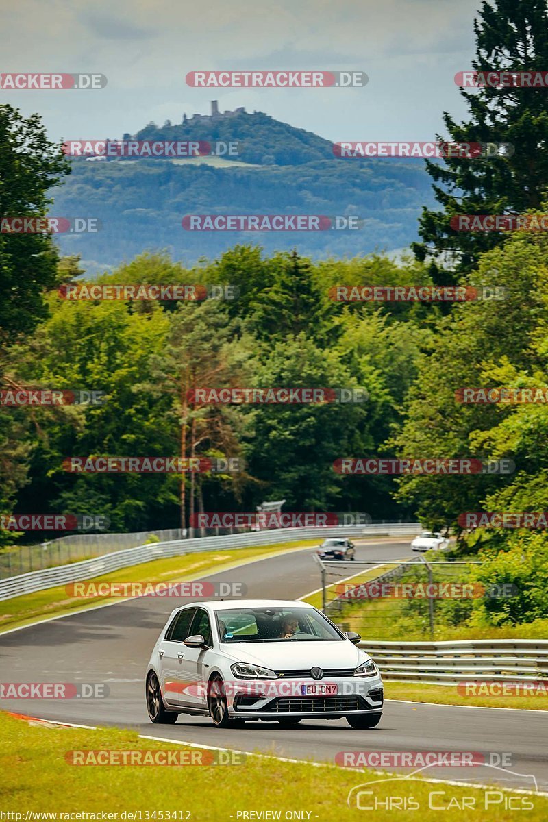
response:
[[[264,665],[275,671],[357,667],[369,659],[366,651],[352,642],[250,642],[231,645],[226,652],[237,662]]]

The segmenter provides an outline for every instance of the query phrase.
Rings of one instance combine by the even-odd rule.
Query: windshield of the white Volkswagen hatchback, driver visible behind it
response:
[[[344,640],[313,608],[227,608],[216,611],[221,642],[326,642]]]

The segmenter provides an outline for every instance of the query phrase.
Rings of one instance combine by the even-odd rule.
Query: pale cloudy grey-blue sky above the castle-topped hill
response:
[[[102,139],[182,113],[245,106],[331,141],[430,141],[466,116],[480,0],[19,0],[4,4],[0,72],[97,72],[96,90],[5,90],[48,136]],[[187,72],[361,71],[363,88],[198,89]]]

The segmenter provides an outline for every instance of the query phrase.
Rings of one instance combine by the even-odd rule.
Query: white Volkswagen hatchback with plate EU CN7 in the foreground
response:
[[[210,716],[217,727],[261,719],[346,718],[380,722],[380,673],[359,635],[344,634],[307,603],[214,600],[177,608],[150,656],[145,694],[150,720]]]

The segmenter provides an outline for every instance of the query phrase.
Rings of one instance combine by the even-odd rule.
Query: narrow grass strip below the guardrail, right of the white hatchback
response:
[[[387,700],[431,702],[440,705],[475,705],[477,708],[526,708],[548,710],[548,696],[464,696],[455,686],[429,685],[427,682],[390,682],[385,680]]]

